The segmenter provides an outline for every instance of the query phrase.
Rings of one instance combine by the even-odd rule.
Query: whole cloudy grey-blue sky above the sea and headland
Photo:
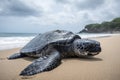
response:
[[[120,0],[0,0],[0,32],[79,32],[120,17]]]

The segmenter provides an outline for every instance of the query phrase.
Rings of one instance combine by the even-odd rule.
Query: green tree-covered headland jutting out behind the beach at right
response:
[[[101,24],[88,24],[80,33],[114,33],[120,32],[120,18],[115,18],[110,22]]]

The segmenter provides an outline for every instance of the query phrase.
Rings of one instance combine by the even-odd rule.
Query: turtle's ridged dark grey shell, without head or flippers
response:
[[[20,52],[21,53],[31,53],[36,51],[41,51],[45,46],[56,43],[59,41],[72,41],[76,38],[80,38],[78,35],[70,31],[65,30],[55,30],[37,35],[33,38],[26,46],[24,46]],[[51,44],[52,45],[52,44]]]

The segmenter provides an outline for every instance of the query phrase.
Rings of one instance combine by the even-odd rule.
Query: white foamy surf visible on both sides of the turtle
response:
[[[113,34],[78,34],[81,38],[106,37]],[[114,34],[116,35],[116,34]],[[25,46],[35,36],[5,36],[0,37],[0,50],[13,49]]]

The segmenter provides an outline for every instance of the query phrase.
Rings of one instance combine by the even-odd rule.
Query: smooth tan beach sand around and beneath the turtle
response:
[[[93,58],[64,59],[56,69],[30,77],[19,73],[31,58],[7,60],[19,49],[0,51],[0,80],[120,80],[120,35],[95,39],[102,52]]]

